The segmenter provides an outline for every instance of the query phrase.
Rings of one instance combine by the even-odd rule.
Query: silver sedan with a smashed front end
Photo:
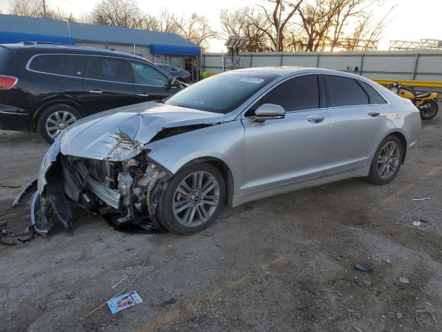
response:
[[[421,133],[419,110],[365,77],[320,68],[249,68],[166,100],[81,119],[41,164],[32,222],[72,205],[115,225],[193,234],[236,206],[367,177],[394,179]]]

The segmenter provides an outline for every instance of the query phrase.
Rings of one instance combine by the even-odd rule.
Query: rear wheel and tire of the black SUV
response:
[[[37,121],[37,131],[41,138],[52,144],[60,131],[80,118],[81,114],[73,107],[66,104],[55,104],[41,113]]]

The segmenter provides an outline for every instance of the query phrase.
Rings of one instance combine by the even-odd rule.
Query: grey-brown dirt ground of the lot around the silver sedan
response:
[[[47,148],[0,131],[11,232],[28,226],[28,207],[10,205]],[[73,235],[0,245],[0,331],[442,331],[441,208],[439,114],[390,185],[353,179],[227,208],[188,237],[82,216]],[[88,315],[126,286],[142,304]]]

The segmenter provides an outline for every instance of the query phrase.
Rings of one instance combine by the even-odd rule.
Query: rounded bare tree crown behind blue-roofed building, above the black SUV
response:
[[[143,19],[135,0],[102,0],[90,13],[93,24],[137,28]]]

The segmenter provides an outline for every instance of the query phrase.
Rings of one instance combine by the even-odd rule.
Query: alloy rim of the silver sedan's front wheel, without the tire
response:
[[[176,220],[186,227],[205,223],[220,203],[220,184],[209,172],[186,176],[173,194],[172,210]]]

